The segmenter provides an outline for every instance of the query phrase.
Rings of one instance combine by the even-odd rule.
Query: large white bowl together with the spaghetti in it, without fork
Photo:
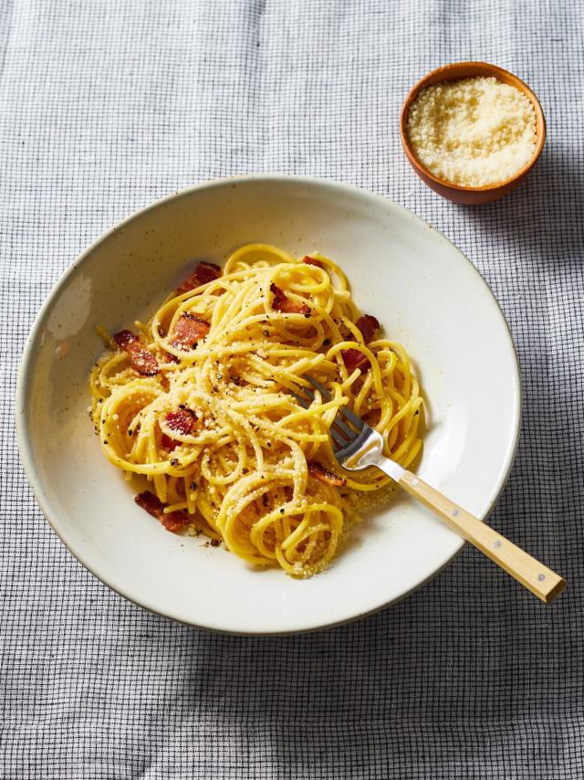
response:
[[[257,248],[260,240],[278,249]],[[305,256],[322,268],[303,262]],[[205,268],[214,276],[214,266],[221,279],[202,279]],[[232,274],[239,281],[230,282]],[[192,289],[183,289],[191,277]],[[291,304],[303,311],[278,311]],[[330,311],[338,312],[332,319],[340,318],[340,325],[333,322],[339,336],[327,319]],[[254,317],[259,322],[249,322]],[[230,321],[239,335],[225,333]],[[105,355],[96,324],[111,347]],[[195,336],[193,349],[188,344]],[[181,349],[172,346],[175,341]],[[221,343],[225,352],[213,363],[210,352]],[[142,373],[132,368],[132,357]],[[303,373],[300,361],[307,357]],[[355,361],[363,364],[351,379]],[[95,416],[99,437],[88,419],[88,377],[96,362],[99,406],[110,405],[108,416]],[[240,381],[237,371],[244,369],[247,378]],[[191,377],[184,389],[178,382],[183,371]],[[324,408],[317,396],[306,415],[295,405],[291,385],[312,374],[334,401]],[[212,379],[222,383],[216,393]],[[423,403],[414,380],[423,388]],[[141,400],[132,396],[132,383],[143,387]],[[364,383],[370,387],[361,393]],[[203,393],[205,387],[211,392]],[[345,184],[249,176],[171,195],[130,216],[75,260],[50,292],[26,344],[16,429],[47,521],[103,583],[189,625],[294,633],[391,604],[463,547],[454,532],[391,484],[378,488],[374,475],[363,474],[360,487],[371,480],[376,489],[350,487],[353,477],[329,459],[325,437],[328,416],[339,404],[360,416],[370,411],[370,422],[387,431],[393,457],[399,454],[402,463],[412,457],[422,480],[484,518],[506,482],[518,432],[519,380],[505,318],[469,260],[401,206]],[[423,414],[415,414],[416,405]],[[294,415],[300,415],[296,422]],[[102,419],[110,420],[111,438]],[[200,447],[203,428],[209,433]],[[110,457],[120,459],[121,468]],[[274,472],[284,469],[273,489],[256,487],[260,457]],[[237,469],[241,476],[230,482]],[[348,483],[331,485],[317,472]],[[150,497],[142,504],[156,519],[134,501],[146,492]],[[295,510],[306,493],[311,506],[339,509],[336,539],[341,517],[335,511],[311,512],[302,525],[306,512]],[[244,511],[227,514],[252,496]],[[308,524],[321,527],[304,542],[293,536],[305,534]],[[269,563],[249,563],[226,549],[230,543]]]

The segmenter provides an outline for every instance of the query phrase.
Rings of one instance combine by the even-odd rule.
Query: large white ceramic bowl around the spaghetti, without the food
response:
[[[421,378],[429,430],[420,475],[481,518],[514,458],[520,386],[505,318],[473,265],[401,206],[344,184],[280,175],[200,184],[131,216],[76,260],[36,318],[17,388],[19,447],[48,522],[136,604],[195,626],[278,634],[391,604],[463,542],[396,494],[328,571],[298,581],[166,532],[136,506],[89,421],[89,368],[102,352],[94,326],[130,325],[193,259],[222,262],[252,241],[339,262],[361,310],[407,347]]]

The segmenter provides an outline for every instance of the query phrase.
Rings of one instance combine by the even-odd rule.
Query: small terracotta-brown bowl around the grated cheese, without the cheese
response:
[[[513,174],[513,176],[510,176],[508,179],[505,179],[502,182],[495,182],[495,184],[486,184],[484,187],[463,187],[431,174],[416,158],[408,139],[408,113],[410,112],[410,106],[412,105],[413,100],[415,100],[420,90],[424,87],[430,87],[432,84],[439,84],[443,81],[469,79],[474,76],[495,76],[495,79],[498,81],[509,84],[511,87],[515,87],[516,90],[523,92],[524,95],[527,95],[527,98],[531,100],[534,111],[536,112],[536,148],[531,160],[524,165],[521,170],[517,171],[516,174]],[[431,73],[428,73],[427,76],[424,76],[424,78],[418,81],[413,87],[401,107],[400,134],[403,151],[410,161],[413,170],[420,176],[423,182],[428,184],[429,187],[432,187],[434,192],[437,192],[438,195],[442,195],[448,200],[454,201],[454,203],[462,203],[467,206],[478,206],[479,204],[490,203],[493,200],[498,200],[498,198],[507,195],[507,193],[510,193],[511,190],[516,188],[517,184],[521,184],[526,178],[529,171],[536,164],[537,158],[544,147],[546,141],[546,119],[536,95],[527,87],[526,83],[521,79],[517,79],[513,73],[509,73],[508,70],[504,70],[503,68],[498,68],[496,65],[489,65],[488,62],[454,62],[452,65],[444,65],[442,68],[437,68]]]

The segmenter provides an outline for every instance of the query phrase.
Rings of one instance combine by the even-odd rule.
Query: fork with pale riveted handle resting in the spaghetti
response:
[[[332,396],[316,379],[308,374],[304,375],[304,379],[307,379],[326,401],[331,400]],[[304,396],[293,390],[290,392],[308,409],[315,401],[314,391],[304,385],[297,387],[302,390]],[[509,542],[505,536],[501,536],[485,522],[446,498],[443,493],[423,482],[411,471],[403,469],[395,460],[383,455],[381,434],[346,406],[339,407],[329,434],[333,442],[333,452],[343,469],[361,471],[371,466],[381,469],[403,490],[422,501],[422,504],[432,510],[449,528],[474,544],[481,553],[485,553],[546,604],[550,604],[566,587],[566,580],[559,574],[540,564],[516,544]]]

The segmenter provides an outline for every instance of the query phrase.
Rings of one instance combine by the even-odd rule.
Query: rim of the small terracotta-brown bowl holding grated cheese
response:
[[[463,184],[454,184],[454,182],[449,182],[447,179],[442,179],[439,176],[433,174],[431,171],[429,171],[428,168],[426,168],[425,165],[423,165],[418,160],[416,155],[413,153],[412,144],[410,143],[410,139],[408,138],[408,128],[407,128],[408,114],[410,112],[412,102],[417,98],[419,92],[424,87],[429,86],[428,82],[431,79],[434,79],[434,77],[436,76],[443,76],[444,77],[443,81],[459,81],[461,79],[475,78],[473,76],[460,76],[457,74],[457,71],[470,68],[470,67],[476,68],[478,70],[478,72],[475,74],[475,77],[479,77],[481,75],[495,76],[495,78],[497,76],[506,76],[507,78],[515,81],[517,84],[517,88],[520,89],[531,101],[534,111],[536,112],[536,117],[539,119],[539,131],[536,131],[536,148],[534,149],[534,152],[531,155],[530,159],[527,161],[527,163],[512,176],[508,176],[506,179],[502,179],[499,182],[493,182],[492,184],[484,184],[483,186],[480,187],[469,187],[469,186],[464,186]],[[438,82],[434,82],[434,83],[438,83]],[[400,112],[401,145],[403,147],[403,151],[406,154],[406,157],[408,158],[409,163],[412,165],[412,167],[417,173],[424,174],[424,176],[427,176],[429,179],[431,179],[434,182],[434,184],[439,184],[440,186],[445,187],[446,189],[454,190],[457,192],[468,192],[468,193],[496,192],[508,186],[509,184],[512,184],[513,182],[522,179],[524,176],[528,174],[531,168],[533,168],[533,166],[537,163],[539,155],[542,153],[544,144],[546,142],[546,134],[547,134],[546,117],[543,112],[543,109],[541,108],[541,104],[537,99],[536,93],[529,86],[527,86],[526,82],[523,79],[519,79],[519,77],[516,76],[515,73],[511,73],[510,70],[506,70],[505,68],[500,68],[498,65],[492,65],[489,62],[483,62],[481,60],[469,59],[461,62],[452,62],[449,65],[441,65],[440,68],[435,68],[431,70],[429,73],[426,73],[426,75],[423,76],[422,79],[420,79],[413,85],[412,89],[406,95],[405,100],[403,101],[403,104],[401,106],[401,112]]]

